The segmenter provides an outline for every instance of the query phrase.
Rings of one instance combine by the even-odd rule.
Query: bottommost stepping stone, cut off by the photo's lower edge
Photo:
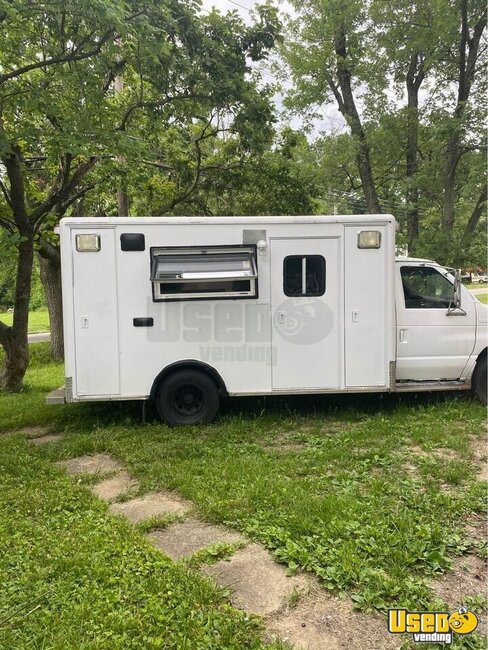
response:
[[[388,650],[405,641],[388,633],[386,617],[356,612],[349,599],[323,590],[269,619],[266,627],[269,640],[279,638],[295,650]]]

